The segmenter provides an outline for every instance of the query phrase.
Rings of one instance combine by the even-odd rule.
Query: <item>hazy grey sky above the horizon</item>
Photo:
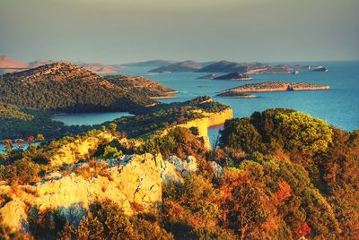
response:
[[[0,0],[20,61],[359,59],[359,0]]]

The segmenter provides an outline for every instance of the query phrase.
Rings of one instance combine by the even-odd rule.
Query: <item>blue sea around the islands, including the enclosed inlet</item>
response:
[[[270,64],[323,65],[328,72],[300,71],[299,74],[252,74],[251,81],[223,81],[198,79],[208,73],[160,73],[148,74],[153,67],[128,67],[119,74],[144,75],[153,81],[161,82],[171,89],[178,90],[175,99],[161,99],[161,102],[181,102],[197,96],[208,95],[215,101],[232,107],[235,117],[250,116],[255,111],[267,108],[293,108],[311,116],[320,117],[337,128],[353,131],[359,129],[359,61],[337,62],[292,62]],[[148,75],[147,75],[148,74]],[[224,73],[215,73],[221,75]],[[258,92],[257,99],[225,99],[215,97],[221,90],[238,87],[247,83],[261,81],[311,82],[329,85],[330,90]],[[54,116],[65,124],[101,124],[127,113],[96,113]],[[221,126],[209,129],[212,143],[215,142]],[[0,147],[1,148],[1,147]]]

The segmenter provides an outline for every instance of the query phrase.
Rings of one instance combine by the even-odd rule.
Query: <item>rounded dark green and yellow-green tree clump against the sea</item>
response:
[[[332,131],[318,118],[288,109],[268,109],[224,125],[222,145],[253,153],[281,148],[312,156],[328,150]]]

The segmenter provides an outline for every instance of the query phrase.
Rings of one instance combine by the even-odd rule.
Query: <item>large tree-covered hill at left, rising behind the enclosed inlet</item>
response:
[[[0,100],[5,103],[65,112],[136,113],[156,104],[148,91],[151,90],[139,90],[135,84],[121,87],[83,67],[64,62],[7,73],[0,79]]]

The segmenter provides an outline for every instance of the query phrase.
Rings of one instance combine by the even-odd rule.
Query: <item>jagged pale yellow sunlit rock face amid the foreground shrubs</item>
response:
[[[114,201],[128,215],[136,212],[134,203],[144,210],[158,207],[162,204],[163,184],[180,183],[183,176],[197,171],[195,158],[171,158],[163,160],[161,154],[148,153],[127,155],[111,159],[106,174],[88,179],[73,170],[66,176],[59,172],[47,175],[34,185],[0,186],[0,194],[6,196],[0,209],[3,224],[13,231],[26,230],[27,216],[33,209],[37,214],[60,210],[63,216],[81,219],[92,202],[102,200]]]

